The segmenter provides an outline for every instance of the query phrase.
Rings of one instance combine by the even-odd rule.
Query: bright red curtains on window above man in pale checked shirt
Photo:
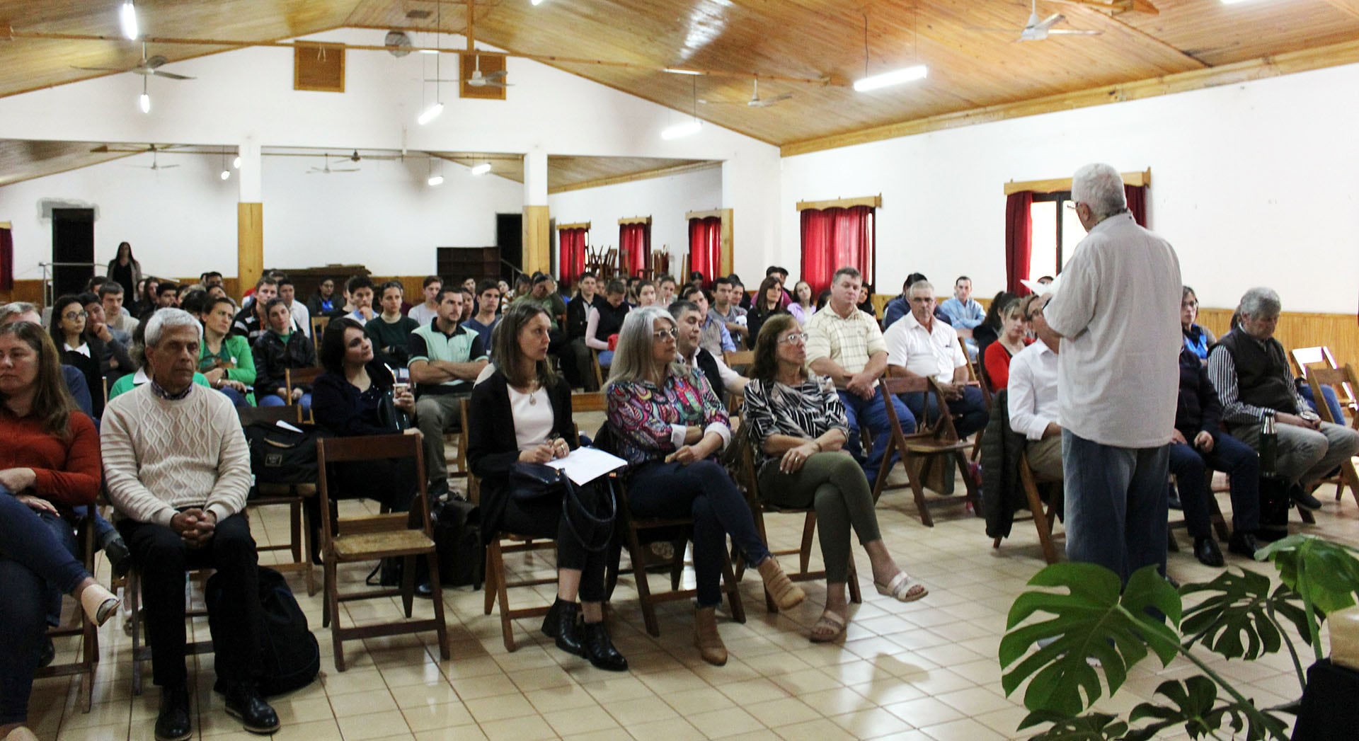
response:
[[[858,268],[874,281],[877,219],[872,207],[807,208],[802,211],[802,280],[813,295],[830,287],[836,271]]]

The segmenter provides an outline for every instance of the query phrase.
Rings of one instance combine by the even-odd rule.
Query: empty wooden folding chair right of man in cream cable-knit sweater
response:
[[[390,513],[366,517],[330,517],[329,464],[345,461],[374,461],[383,458],[414,458],[417,495],[412,503],[420,518],[420,528],[410,528],[409,513]],[[321,489],[321,537],[325,560],[326,601],[322,627],[330,627],[334,642],[336,669],[345,670],[344,642],[383,635],[435,631],[439,636],[440,658],[450,658],[448,625],[443,617],[443,586],[439,582],[439,555],[434,542],[434,523],[429,519],[429,499],[425,491],[424,453],[416,435],[364,435],[356,438],[322,438],[317,441],[317,464]],[[416,556],[425,556],[429,564],[429,587],[434,591],[434,619],[410,620],[414,598]],[[337,568],[341,563],[372,562],[387,557],[405,559],[402,583],[397,589],[340,593]],[[367,625],[340,627],[340,602],[401,596],[406,620]]]

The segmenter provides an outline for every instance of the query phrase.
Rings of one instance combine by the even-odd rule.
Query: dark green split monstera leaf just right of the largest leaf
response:
[[[1208,597],[1185,610],[1180,625],[1188,636],[1186,649],[1201,642],[1226,658],[1256,659],[1283,646],[1283,635],[1269,608],[1284,601],[1288,593],[1271,594],[1269,576],[1254,571],[1224,571],[1208,583],[1180,589],[1185,596],[1199,591],[1208,593]],[[1273,606],[1279,609],[1277,604]],[[1301,631],[1307,632],[1306,624]]]

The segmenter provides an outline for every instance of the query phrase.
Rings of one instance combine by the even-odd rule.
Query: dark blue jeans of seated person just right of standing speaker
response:
[[[1170,473],[1180,487],[1185,526],[1195,538],[1208,537],[1211,510],[1205,479],[1208,470],[1224,470],[1231,481],[1231,529],[1253,533],[1260,528],[1260,455],[1249,445],[1226,432],[1212,436],[1212,451],[1203,453],[1184,443],[1170,445]]]

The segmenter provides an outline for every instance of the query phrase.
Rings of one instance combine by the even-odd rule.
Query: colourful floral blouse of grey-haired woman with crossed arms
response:
[[[618,438],[620,457],[629,465],[659,461],[684,446],[685,428],[703,426],[731,442],[727,409],[703,371],[670,366],[660,386],[648,381],[620,381],[606,389],[609,428]]]

